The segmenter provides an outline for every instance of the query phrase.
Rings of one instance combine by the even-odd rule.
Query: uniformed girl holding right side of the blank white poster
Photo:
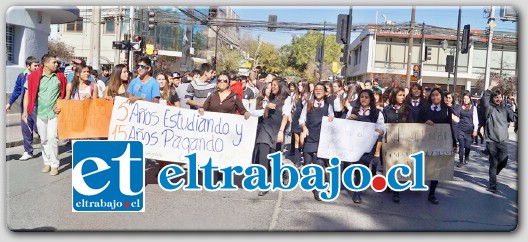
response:
[[[385,128],[385,120],[381,111],[376,108],[376,101],[374,99],[374,93],[370,89],[363,89],[359,92],[359,97],[354,105],[354,108],[348,115],[348,119],[375,123],[375,131],[378,132],[379,136],[383,136],[387,131]],[[363,154],[358,161],[352,162],[354,164],[361,164],[368,167],[368,164],[373,158],[374,151],[376,150],[376,144],[372,146],[370,152]],[[351,163],[346,162],[344,168],[349,166]],[[361,180],[361,173],[359,171],[354,172],[354,183],[359,184]],[[354,203],[361,203],[361,193],[354,192],[352,195],[352,201]]]

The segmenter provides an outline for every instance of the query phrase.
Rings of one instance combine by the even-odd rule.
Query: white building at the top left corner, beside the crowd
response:
[[[76,7],[15,6],[6,14],[6,93],[11,93],[16,78],[26,68],[26,58],[40,59],[48,53],[50,25],[75,21]]]

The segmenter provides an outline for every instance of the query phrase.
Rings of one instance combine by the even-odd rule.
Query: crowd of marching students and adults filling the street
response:
[[[40,64],[40,65],[39,65]],[[491,80],[488,90],[480,99],[472,100],[469,92],[456,95],[441,88],[428,90],[419,84],[410,88],[381,87],[377,79],[345,83],[343,80],[318,83],[301,80],[291,82],[273,74],[260,76],[258,70],[248,76],[234,71],[217,72],[207,63],[197,70],[159,72],[153,74],[152,62],[147,56],[139,57],[135,72],[118,64],[111,70],[103,67],[102,73],[87,66],[83,60],[72,60],[71,70],[58,70],[56,57],[44,55],[40,62],[28,57],[26,69],[17,80],[6,110],[20,96],[24,154],[20,160],[33,158],[33,132],[39,134],[44,167],[42,172],[58,174],[57,125],[60,109],[58,99],[86,100],[90,98],[126,97],[129,102],[138,100],[163,103],[179,108],[204,112],[221,112],[258,117],[257,138],[253,163],[269,171],[268,154],[285,150],[285,138],[291,137],[288,151],[297,167],[308,164],[327,165],[327,160],[317,156],[324,116],[333,119],[350,119],[375,123],[380,135],[372,150],[357,161],[343,164],[361,164],[370,167],[372,174],[382,171],[381,137],[386,133],[385,123],[447,123],[452,128],[453,151],[458,149],[458,167],[470,162],[471,144],[486,141],[489,156],[490,192],[497,192],[497,175],[508,161],[508,127],[516,121],[515,99],[503,99],[497,87],[499,81]],[[483,130],[483,133],[482,133]],[[165,161],[158,161],[160,166]],[[268,172],[271,174],[271,172]],[[216,174],[216,179],[222,179]],[[359,183],[359,172],[354,181]],[[435,190],[438,181],[431,181],[428,201],[438,204]],[[264,196],[267,191],[259,192]],[[314,190],[314,198],[320,200]],[[392,200],[400,202],[400,194],[393,192]],[[361,203],[359,192],[353,195],[354,203]]]

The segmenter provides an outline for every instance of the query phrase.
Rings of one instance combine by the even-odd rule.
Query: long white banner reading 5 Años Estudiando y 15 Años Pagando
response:
[[[198,165],[212,158],[213,165],[251,165],[257,132],[256,117],[205,112],[116,97],[108,131],[109,140],[139,140],[145,158],[187,162],[195,153]]]

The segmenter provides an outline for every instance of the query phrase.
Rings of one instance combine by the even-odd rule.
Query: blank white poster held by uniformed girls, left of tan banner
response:
[[[328,122],[323,117],[317,156],[356,162],[376,144],[379,134],[375,130],[374,123],[338,118]]]

